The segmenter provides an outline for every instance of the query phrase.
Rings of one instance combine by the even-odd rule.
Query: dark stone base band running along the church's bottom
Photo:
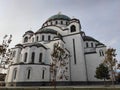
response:
[[[18,86],[18,87],[24,87],[24,86],[51,86],[51,82],[9,82],[5,83],[6,86]],[[106,81],[106,84],[111,85],[111,81]],[[4,85],[4,84],[3,84]],[[57,86],[81,86],[81,85],[104,85],[103,81],[90,81],[90,82],[80,82],[80,81],[58,81],[56,82]]]

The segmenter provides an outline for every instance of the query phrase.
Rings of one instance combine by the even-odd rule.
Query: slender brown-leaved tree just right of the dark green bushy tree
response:
[[[114,67],[115,67],[115,65],[117,63],[117,60],[115,58],[116,57],[115,51],[116,50],[113,49],[113,48],[108,48],[107,51],[105,52],[106,56],[105,56],[105,60],[104,60],[104,63],[110,69],[112,85],[114,85],[114,81],[115,81]]]

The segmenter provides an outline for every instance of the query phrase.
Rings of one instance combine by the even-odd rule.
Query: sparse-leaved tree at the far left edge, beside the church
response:
[[[10,55],[11,55],[11,50],[9,49],[9,44],[12,41],[12,35],[5,35],[3,37],[3,42],[0,45],[0,85],[4,85],[4,80],[6,73],[5,71],[7,70]]]

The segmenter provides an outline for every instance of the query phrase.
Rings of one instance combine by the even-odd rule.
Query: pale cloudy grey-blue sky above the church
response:
[[[58,12],[79,19],[82,31],[115,48],[120,61],[120,0],[0,0],[0,44],[6,34],[13,35],[11,47],[21,43]]]

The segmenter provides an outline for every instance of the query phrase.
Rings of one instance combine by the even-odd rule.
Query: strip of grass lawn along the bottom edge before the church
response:
[[[0,90],[54,90],[53,87],[0,87]],[[120,86],[115,88],[109,86],[60,86],[56,90],[120,90]]]

